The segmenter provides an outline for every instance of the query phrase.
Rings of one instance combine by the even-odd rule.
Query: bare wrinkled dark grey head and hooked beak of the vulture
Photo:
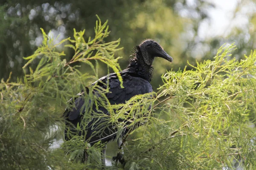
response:
[[[139,45],[141,53],[143,55],[143,59],[147,65],[152,65],[154,61],[154,57],[161,57],[169,62],[172,62],[173,59],[171,56],[169,56],[154,40],[144,40]]]

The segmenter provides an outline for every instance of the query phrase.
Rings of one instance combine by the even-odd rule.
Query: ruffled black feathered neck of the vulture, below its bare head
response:
[[[134,57],[130,59],[130,64],[125,70],[129,73],[137,74],[138,77],[151,82],[154,69],[152,65],[145,63],[139,46],[136,46],[134,54],[132,55]]]

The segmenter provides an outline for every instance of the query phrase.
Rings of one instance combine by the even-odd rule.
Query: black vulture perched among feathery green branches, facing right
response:
[[[98,81],[91,85],[93,86],[97,83],[98,86],[106,89],[108,88],[108,84],[109,92],[105,96],[108,98],[111,105],[125,103],[125,101],[128,101],[135,95],[146,94],[153,91],[150,82],[153,74],[152,63],[154,61],[154,57],[161,57],[168,60],[169,62],[173,61],[172,57],[170,57],[154,40],[144,40],[140,43],[140,45],[137,45],[134,48],[133,56],[134,57],[130,59],[128,67],[125,70],[119,72],[122,76],[124,88],[120,87],[120,81],[116,73],[108,74],[107,76],[100,78]],[[85,100],[82,97],[84,93],[85,92],[82,91],[78,94],[76,99],[71,99],[70,101],[74,102],[74,108],[66,108],[64,112],[64,117],[66,119],[65,140],[70,140],[73,137],[70,135],[70,133],[68,133],[67,129],[71,131],[73,130],[73,132],[77,133],[75,130],[77,125],[79,124],[79,126],[82,126],[81,120],[84,119],[85,110],[88,109],[84,106]],[[95,95],[97,95],[96,92]],[[90,108],[90,111],[92,111],[92,117],[93,112],[108,114],[108,111],[103,106],[90,105],[90,107],[92,107]],[[97,132],[97,130],[99,130],[97,127],[92,128],[92,122],[104,121],[99,119],[99,117],[92,118],[92,120],[90,120],[87,124],[87,127],[85,127],[86,132],[78,132],[79,135],[84,135],[84,139],[91,145],[99,141],[102,143],[109,142],[116,138],[116,130],[109,129],[112,127],[106,127],[104,132]],[[73,126],[73,129],[71,126]],[[92,136],[92,134],[94,135]],[[86,151],[84,151],[83,160],[87,160]],[[105,149],[102,151],[102,163],[105,165]]]

